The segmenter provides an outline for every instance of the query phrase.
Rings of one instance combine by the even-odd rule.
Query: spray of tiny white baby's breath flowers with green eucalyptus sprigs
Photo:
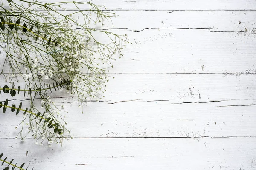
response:
[[[76,10],[67,11],[65,6]],[[24,140],[31,134],[42,145],[44,140],[48,144],[62,144],[63,139],[70,137],[62,115],[63,106],[51,100],[55,91],[75,95],[82,113],[88,101],[104,97],[109,78],[106,73],[128,43],[126,35],[93,28],[93,24],[112,24],[115,13],[105,9],[90,1],[2,0],[0,58],[4,62],[0,63],[0,77],[5,82],[0,83],[0,95],[24,95],[30,99],[28,106],[0,99],[3,113],[24,115],[17,126],[21,127],[17,138]],[[28,122],[26,134],[23,134],[24,122]]]

